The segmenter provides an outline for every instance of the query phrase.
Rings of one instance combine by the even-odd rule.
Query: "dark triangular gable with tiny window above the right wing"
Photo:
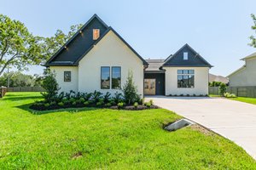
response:
[[[189,59],[183,59],[183,53],[188,52]],[[212,67],[207,60],[203,59],[200,54],[197,54],[193,48],[185,44],[176,54],[166,60],[162,66],[195,66],[195,67]]]

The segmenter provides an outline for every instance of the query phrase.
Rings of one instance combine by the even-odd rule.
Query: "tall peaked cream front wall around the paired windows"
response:
[[[143,61],[128,48],[113,31],[109,31],[83,59],[79,61],[79,92],[90,93],[95,90],[114,94],[117,89],[101,89],[101,67],[121,67],[121,87],[124,86],[128,72],[133,72],[133,81],[138,94],[143,95]]]

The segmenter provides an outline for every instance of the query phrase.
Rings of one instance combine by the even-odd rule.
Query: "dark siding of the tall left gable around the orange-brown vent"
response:
[[[73,65],[96,42],[92,39],[93,29],[100,29],[100,37],[102,37],[108,26],[96,14],[93,15],[45,65]],[[67,49],[64,48],[65,46]]]

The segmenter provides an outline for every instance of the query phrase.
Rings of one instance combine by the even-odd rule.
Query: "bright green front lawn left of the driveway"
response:
[[[38,93],[0,99],[0,169],[256,169],[236,144],[195,127],[166,132],[166,110],[33,113]]]

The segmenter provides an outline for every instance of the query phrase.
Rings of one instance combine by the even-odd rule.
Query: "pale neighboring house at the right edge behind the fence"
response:
[[[228,76],[230,87],[256,86],[256,53],[241,60],[245,61],[245,65]]]

